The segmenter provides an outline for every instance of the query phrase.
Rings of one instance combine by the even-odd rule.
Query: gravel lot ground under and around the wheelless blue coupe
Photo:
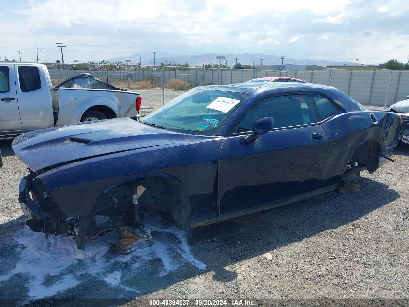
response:
[[[358,193],[331,192],[188,233],[152,217],[152,247],[120,256],[109,236],[79,251],[68,236],[46,239],[28,230],[16,200],[25,166],[10,144],[0,140],[0,298],[16,299],[8,304],[39,306],[44,302],[29,299],[48,296],[63,298],[49,306],[73,306],[70,298],[106,299],[93,301],[98,306],[138,306],[141,298],[408,304],[407,145],[394,150],[394,163],[362,172]]]

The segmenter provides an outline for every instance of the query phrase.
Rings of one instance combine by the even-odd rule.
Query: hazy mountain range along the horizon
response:
[[[153,52],[137,52],[129,56],[121,56],[113,59],[109,59],[111,62],[125,62],[125,60],[131,60],[130,64],[138,65],[141,61],[141,65],[160,65],[164,61],[172,61],[172,63],[185,64],[188,63],[189,66],[202,66],[208,63],[220,63],[220,60],[216,59],[217,56],[226,56],[226,60],[222,60],[222,64],[228,66],[233,66],[236,62],[240,62],[242,65],[261,65],[261,59],[263,65],[273,65],[281,64],[281,58],[279,56],[271,54],[262,53],[229,53],[229,54],[218,54],[218,53],[204,53],[197,55],[175,55],[167,54],[163,52],[156,52],[155,56]],[[331,60],[313,60],[313,59],[294,59],[284,57],[283,64],[304,64],[304,65],[355,65],[355,62],[342,62],[342,61],[331,61]],[[360,63],[358,63],[360,64]]]

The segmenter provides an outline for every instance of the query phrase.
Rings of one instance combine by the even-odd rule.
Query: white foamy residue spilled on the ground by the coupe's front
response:
[[[136,275],[142,268],[149,269],[148,262],[152,259],[160,259],[162,263],[159,276],[175,272],[186,263],[191,263],[199,270],[206,269],[206,265],[190,252],[184,230],[177,226],[160,226],[160,219],[157,217],[148,220],[145,225],[146,229],[152,231],[153,245],[128,255],[119,255],[110,249],[115,240],[115,232],[100,237],[95,243],[87,243],[83,251],[77,249],[76,241],[71,236],[50,236],[46,239],[44,234],[32,232],[24,226],[15,236],[15,241],[20,246],[16,251],[19,260],[15,268],[0,276],[0,281],[7,282],[16,274],[29,276],[27,295],[39,299],[76,287],[82,282],[84,275],[105,280],[113,288],[140,292],[123,284],[126,279],[124,275]],[[171,240],[169,235],[177,240]],[[175,257],[178,254],[185,261]],[[126,272],[118,270],[119,262],[131,264],[132,272],[129,272],[129,266],[124,269]]]

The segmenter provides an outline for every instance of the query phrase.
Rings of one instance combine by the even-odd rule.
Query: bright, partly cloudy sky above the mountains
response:
[[[33,61],[38,48],[55,62],[64,43],[65,62],[155,51],[406,63],[408,15],[407,0],[0,0],[0,57]]]

